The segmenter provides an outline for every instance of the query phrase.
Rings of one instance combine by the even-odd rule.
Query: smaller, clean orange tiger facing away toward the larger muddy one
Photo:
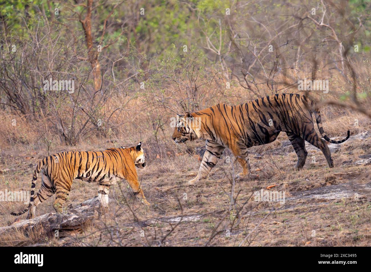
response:
[[[54,194],[56,199],[53,207],[56,212],[62,212],[62,206],[75,178],[98,182],[98,199],[102,207],[108,206],[109,187],[122,179],[129,182],[134,194],[139,194],[142,202],[150,205],[144,197],[135,169],[145,168],[146,165],[142,142],[130,148],[109,148],[98,152],[68,151],[45,157],[33,173],[29,206],[21,212],[11,214],[18,216],[29,211],[27,219],[31,219],[35,215],[36,206]],[[42,170],[41,188],[34,197],[35,181],[40,170]]]

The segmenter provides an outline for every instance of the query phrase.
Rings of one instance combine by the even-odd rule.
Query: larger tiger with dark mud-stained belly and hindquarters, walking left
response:
[[[206,178],[225,148],[229,148],[241,164],[243,172],[239,176],[250,175],[247,148],[273,142],[281,131],[286,132],[298,155],[297,169],[303,167],[308,155],[304,140],[319,148],[329,167],[334,167],[326,142],[314,130],[312,113],[326,141],[340,144],[349,138],[349,130],[347,137],[341,141],[328,138],[322,128],[318,108],[310,98],[300,94],[275,94],[236,106],[217,104],[179,115],[172,136],[175,142],[184,143],[198,138],[206,140],[206,151],[198,174],[188,184]]]

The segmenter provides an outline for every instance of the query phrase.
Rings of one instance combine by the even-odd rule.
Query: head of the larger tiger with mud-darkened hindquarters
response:
[[[196,134],[196,127],[195,127],[195,118],[190,113],[185,113],[184,115],[177,115],[175,124],[175,129],[173,136],[173,140],[176,143],[184,143],[188,140],[193,141],[198,139]]]

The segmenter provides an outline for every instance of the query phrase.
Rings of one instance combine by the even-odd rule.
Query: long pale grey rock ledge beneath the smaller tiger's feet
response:
[[[110,199],[112,201],[112,199]],[[10,226],[0,227],[0,236],[14,232],[43,232],[45,235],[66,236],[81,232],[83,225],[97,217],[98,197],[88,199],[63,213],[49,213],[32,219],[14,222]]]

